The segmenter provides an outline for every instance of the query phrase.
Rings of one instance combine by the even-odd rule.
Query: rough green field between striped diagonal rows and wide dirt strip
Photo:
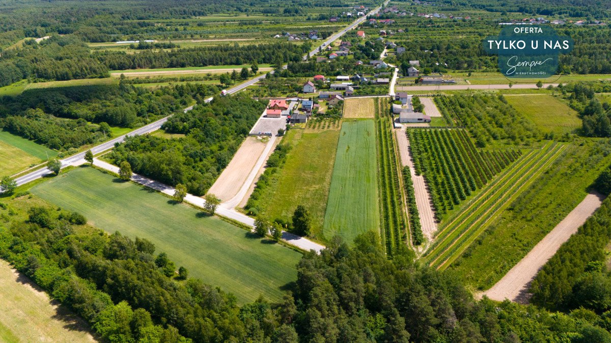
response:
[[[567,144],[562,155],[511,200],[449,269],[473,289],[494,285],[584,199],[590,184],[611,162],[610,150],[604,139]]]

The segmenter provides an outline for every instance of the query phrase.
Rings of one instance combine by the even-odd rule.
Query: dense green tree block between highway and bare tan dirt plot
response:
[[[179,139],[128,137],[110,154],[115,164],[130,162],[134,172],[204,195],[229,164],[266,103],[247,95],[219,96],[169,118],[163,129]]]

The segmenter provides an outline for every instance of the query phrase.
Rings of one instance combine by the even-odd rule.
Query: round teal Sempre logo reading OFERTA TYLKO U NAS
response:
[[[482,43],[486,52],[499,56],[499,69],[507,78],[549,78],[558,71],[560,54],[573,49],[571,37],[546,25],[507,25]]]

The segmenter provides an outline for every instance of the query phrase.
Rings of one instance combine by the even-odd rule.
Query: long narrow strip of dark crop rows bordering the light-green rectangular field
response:
[[[392,117],[385,100],[375,102],[378,131],[378,189],[380,227],[386,253],[392,255],[406,240],[406,222],[400,187],[395,141],[392,137]]]

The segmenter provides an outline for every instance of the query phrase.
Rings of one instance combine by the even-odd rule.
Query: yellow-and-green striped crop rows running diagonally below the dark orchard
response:
[[[437,269],[447,267],[483,232],[489,220],[509,206],[511,200],[543,172],[563,149],[562,145],[548,144],[540,151],[529,154],[528,158],[521,159],[510,173],[503,174],[493,187],[481,193],[468,209],[461,211],[461,215],[440,231],[426,253],[426,261]]]

